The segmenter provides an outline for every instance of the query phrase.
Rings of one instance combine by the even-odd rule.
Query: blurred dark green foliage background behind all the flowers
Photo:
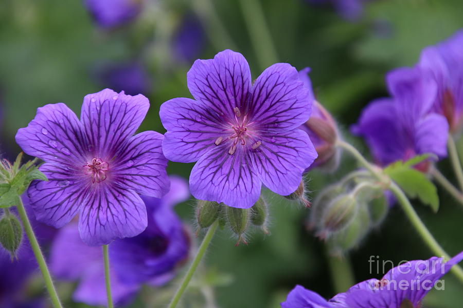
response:
[[[63,102],[79,114],[84,95],[105,87],[94,76],[94,69],[105,62],[136,59],[147,69],[151,82],[144,94],[151,108],[140,129],[164,132],[159,106],[174,97],[191,97],[186,72],[192,62],[175,61],[169,52],[172,29],[185,14],[196,14],[205,32],[199,58],[210,59],[222,49],[234,49],[244,54],[253,79],[257,78],[272,63],[268,63],[268,55],[254,49],[264,33],[249,31],[248,26],[259,21],[260,16],[250,7],[253,4],[262,9],[266,25],[260,30],[270,33],[277,61],[297,69],[312,68],[310,76],[317,99],[333,114],[348,140],[352,140],[348,128],[362,108],[370,100],[387,95],[384,74],[388,70],[414,65],[423,47],[463,28],[461,0],[370,1],[365,4],[363,16],[354,22],[344,20],[329,5],[313,6],[304,0],[157,0],[152,4],[155,9],[145,10],[135,22],[110,31],[93,23],[81,1],[2,0],[2,154],[15,155],[20,150],[14,142],[15,132],[33,119],[37,107]],[[217,22],[228,38],[218,31]],[[352,142],[367,155],[361,140]],[[448,162],[439,164],[453,180],[446,172]],[[169,163],[168,171],[188,178],[191,166]],[[311,171],[311,197],[353,166],[354,162],[344,156],[341,168],[334,174]],[[323,242],[304,226],[310,209],[266,194],[271,203],[271,235],[251,234],[248,245],[235,247],[231,233],[219,232],[198,275],[210,277],[204,281],[198,278],[194,283],[212,285],[213,297],[223,308],[278,307],[295,284],[326,298],[333,296]],[[455,255],[463,250],[463,209],[445,192],[439,194],[441,207],[437,214],[419,203],[415,207],[441,245]],[[192,205],[186,202],[177,206],[191,230]],[[355,281],[382,276],[368,273],[370,255],[397,264],[400,260],[427,259],[431,252],[401,209],[394,207],[384,223],[349,255]],[[426,307],[461,307],[463,287],[451,274],[445,280],[446,290],[432,291],[426,297]],[[60,291],[68,294],[71,287],[62,286]],[[171,287],[154,294],[161,299],[172,291]],[[144,298],[150,293],[145,290],[132,307],[148,306]]]

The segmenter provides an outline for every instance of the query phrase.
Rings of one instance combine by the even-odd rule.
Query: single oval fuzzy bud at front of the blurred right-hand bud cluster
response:
[[[352,194],[343,194],[333,199],[322,215],[323,229],[336,232],[346,228],[357,214],[357,200]]]

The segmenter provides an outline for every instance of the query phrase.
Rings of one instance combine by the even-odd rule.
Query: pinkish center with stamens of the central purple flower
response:
[[[233,141],[230,148],[228,149],[228,154],[234,155],[234,153],[236,152],[237,145],[241,144],[242,146],[244,146],[246,145],[246,142],[249,139],[252,139],[254,142],[254,144],[252,145],[252,149],[257,149],[262,144],[262,142],[255,142],[254,138],[252,138],[254,133],[252,130],[248,130],[248,127],[252,126],[252,123],[249,122],[246,114],[244,114],[244,117],[241,117],[241,111],[238,107],[235,107],[233,110],[235,111],[235,121],[233,121],[233,123],[228,122],[228,124],[230,125],[230,128],[228,129],[230,135],[228,138],[225,138]],[[214,143],[216,145],[219,145],[222,143],[223,140],[223,137],[219,137],[216,139]]]

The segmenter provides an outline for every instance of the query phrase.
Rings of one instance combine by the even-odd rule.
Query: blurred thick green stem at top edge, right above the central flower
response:
[[[272,35],[265,23],[265,15],[258,0],[240,0],[244,22],[261,69],[278,62]]]

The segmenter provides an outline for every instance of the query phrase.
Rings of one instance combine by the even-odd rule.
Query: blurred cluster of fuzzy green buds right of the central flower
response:
[[[307,222],[308,229],[325,240],[333,254],[359,245],[387,215],[388,202],[381,185],[368,176],[352,175],[320,192]]]

